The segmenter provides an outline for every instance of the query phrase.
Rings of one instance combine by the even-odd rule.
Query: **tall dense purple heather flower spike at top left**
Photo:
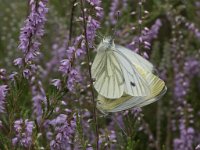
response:
[[[31,11],[21,28],[19,44],[19,49],[24,54],[25,63],[34,61],[39,54],[39,41],[44,35],[45,15],[48,12],[46,3],[47,0],[30,1]]]

